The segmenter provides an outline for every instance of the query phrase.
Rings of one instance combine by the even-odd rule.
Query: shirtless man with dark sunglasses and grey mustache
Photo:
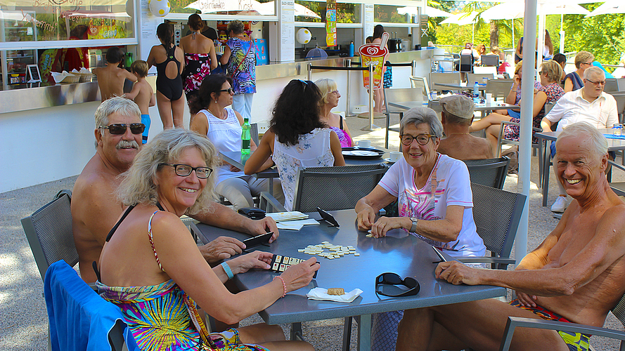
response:
[[[124,207],[115,190],[120,174],[127,171],[141,148],[141,110],[132,100],[120,97],[102,102],[96,110],[96,154],[76,180],[72,196],[72,229],[78,251],[80,276],[87,283],[96,281],[91,267],[100,257],[106,236],[120,218]],[[217,202],[195,219],[217,227],[226,227],[253,235],[274,232],[272,218],[250,220]],[[231,237],[219,237],[199,247],[202,256],[212,263],[241,253],[245,244]]]

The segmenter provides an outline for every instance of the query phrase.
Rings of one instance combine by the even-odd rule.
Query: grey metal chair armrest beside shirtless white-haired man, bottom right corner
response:
[[[617,317],[621,324],[625,326],[625,296],[621,297],[619,303],[612,308],[614,317]],[[505,324],[505,330],[503,331],[503,339],[499,350],[510,350],[510,342],[512,341],[513,333],[516,328],[534,328],[534,329],[548,329],[558,331],[568,331],[571,333],[584,333],[591,334],[593,336],[601,336],[603,338],[612,338],[621,340],[621,347],[619,350],[625,350],[625,332],[607,328],[600,328],[598,326],[587,326],[584,324],[568,323],[568,322],[555,322],[545,319],[523,318],[523,317],[508,317],[508,323]],[[591,349],[592,350],[592,349]]]

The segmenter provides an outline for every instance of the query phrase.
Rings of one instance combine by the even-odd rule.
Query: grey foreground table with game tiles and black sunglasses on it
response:
[[[345,255],[330,260],[316,256],[321,263],[316,279],[309,286],[292,291],[284,298],[259,312],[268,324],[287,324],[321,319],[360,316],[358,324],[359,350],[371,349],[371,314],[405,310],[418,307],[463,303],[505,296],[505,289],[496,286],[453,285],[434,278],[434,268],[439,260],[432,247],[424,241],[409,235],[404,230],[389,231],[387,237],[374,239],[366,237],[356,227],[356,213],[353,209],[330,211],[340,227],[329,227],[321,221],[319,225],[305,225],[302,230],[281,230],[280,237],[269,247],[257,246],[256,250],[270,251],[281,256],[308,259],[311,256],[299,253],[309,244],[330,241],[343,246],[352,245],[360,256]],[[319,219],[318,213],[309,213],[310,218]],[[198,224],[200,239],[208,242],[221,235],[244,239],[245,234]],[[448,257],[449,258],[449,257]],[[384,272],[394,272],[401,277],[414,277],[420,284],[415,296],[389,298],[375,295],[375,277]],[[264,270],[252,270],[236,275],[239,289],[253,289],[271,282],[278,275]],[[316,287],[343,288],[346,292],[361,289],[363,293],[352,303],[309,300],[306,293]]]

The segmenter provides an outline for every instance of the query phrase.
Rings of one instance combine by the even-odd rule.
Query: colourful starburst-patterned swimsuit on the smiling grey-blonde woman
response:
[[[161,208],[160,204],[157,206]],[[110,240],[132,208],[134,206],[130,206],[112,228],[106,241]],[[152,218],[157,212],[152,213],[148,222],[148,239],[153,250]],[[154,256],[163,270],[155,250]],[[269,351],[259,345],[241,344],[236,329],[209,334],[195,301],[172,279],[151,286],[107,286],[98,279],[96,286],[103,298],[120,307],[138,347],[143,351]]]

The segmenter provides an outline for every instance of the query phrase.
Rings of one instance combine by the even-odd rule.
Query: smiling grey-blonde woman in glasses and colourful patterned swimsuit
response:
[[[257,289],[226,289],[233,274],[268,269],[271,254],[255,251],[211,268],[179,219],[214,201],[216,157],[205,137],[183,128],[163,131],[143,147],[117,193],[129,207],[102,250],[98,289],[120,307],[144,351],[313,350],[302,341],[285,341],[279,326],[207,332],[198,306],[234,324],[307,286],[319,267],[311,258]]]

